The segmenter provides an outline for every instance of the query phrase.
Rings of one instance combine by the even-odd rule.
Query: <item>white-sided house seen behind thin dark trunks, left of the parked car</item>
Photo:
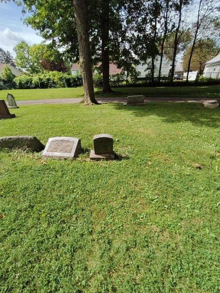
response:
[[[139,77],[145,77],[146,74],[150,72],[150,69],[147,69],[151,66],[151,59],[147,60],[147,64],[139,64],[136,66],[136,70],[141,72],[141,75]],[[172,66],[172,61],[167,59],[165,56],[162,59],[162,66],[161,66],[161,73],[160,76],[168,76],[170,72],[170,68]],[[157,56],[154,61],[154,76],[158,77],[159,74],[159,67],[160,67],[160,56]]]

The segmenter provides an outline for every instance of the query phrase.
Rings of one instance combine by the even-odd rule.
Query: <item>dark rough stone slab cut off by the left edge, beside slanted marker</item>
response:
[[[0,149],[42,151],[44,145],[35,136],[5,136],[0,137]]]

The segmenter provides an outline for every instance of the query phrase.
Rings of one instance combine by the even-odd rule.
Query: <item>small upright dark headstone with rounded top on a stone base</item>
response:
[[[90,152],[91,160],[114,160],[113,137],[110,134],[97,134],[93,137],[94,149]]]

